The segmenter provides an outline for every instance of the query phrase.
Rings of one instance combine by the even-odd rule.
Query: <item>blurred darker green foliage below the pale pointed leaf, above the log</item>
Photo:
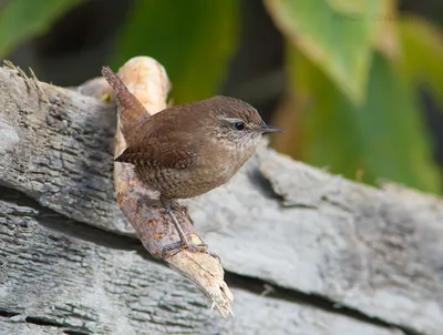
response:
[[[439,169],[413,97],[400,75],[374,53],[367,100],[356,106],[312,62],[289,52],[290,77],[301,97],[302,159],[333,173],[374,183],[387,179],[440,193]]]

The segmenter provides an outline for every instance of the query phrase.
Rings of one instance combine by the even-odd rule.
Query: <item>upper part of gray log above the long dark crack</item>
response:
[[[69,220],[135,236],[114,199],[113,106],[40,83],[47,103],[27,83],[0,69],[0,184]],[[422,334],[443,328],[443,202],[437,197],[352,183],[264,144],[227,185],[184,203],[234,276],[313,294],[396,328]],[[237,315],[241,304],[236,296]],[[336,334],[346,333],[362,334]]]

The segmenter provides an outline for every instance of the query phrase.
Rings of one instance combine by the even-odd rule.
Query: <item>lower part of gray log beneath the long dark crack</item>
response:
[[[401,334],[241,288],[226,321],[135,240],[17,204],[11,193],[0,201],[0,315],[9,314],[0,334]]]

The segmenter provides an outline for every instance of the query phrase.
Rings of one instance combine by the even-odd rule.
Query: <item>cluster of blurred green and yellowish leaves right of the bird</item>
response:
[[[443,97],[441,31],[399,19],[388,0],[266,2],[288,41],[297,109],[280,114],[297,113],[289,132],[301,145],[287,152],[367,183],[385,179],[442,193],[416,92],[426,83]]]

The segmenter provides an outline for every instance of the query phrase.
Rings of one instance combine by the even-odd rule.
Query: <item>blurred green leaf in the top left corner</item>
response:
[[[82,0],[9,0],[0,9],[0,59],[20,42],[43,34]]]

